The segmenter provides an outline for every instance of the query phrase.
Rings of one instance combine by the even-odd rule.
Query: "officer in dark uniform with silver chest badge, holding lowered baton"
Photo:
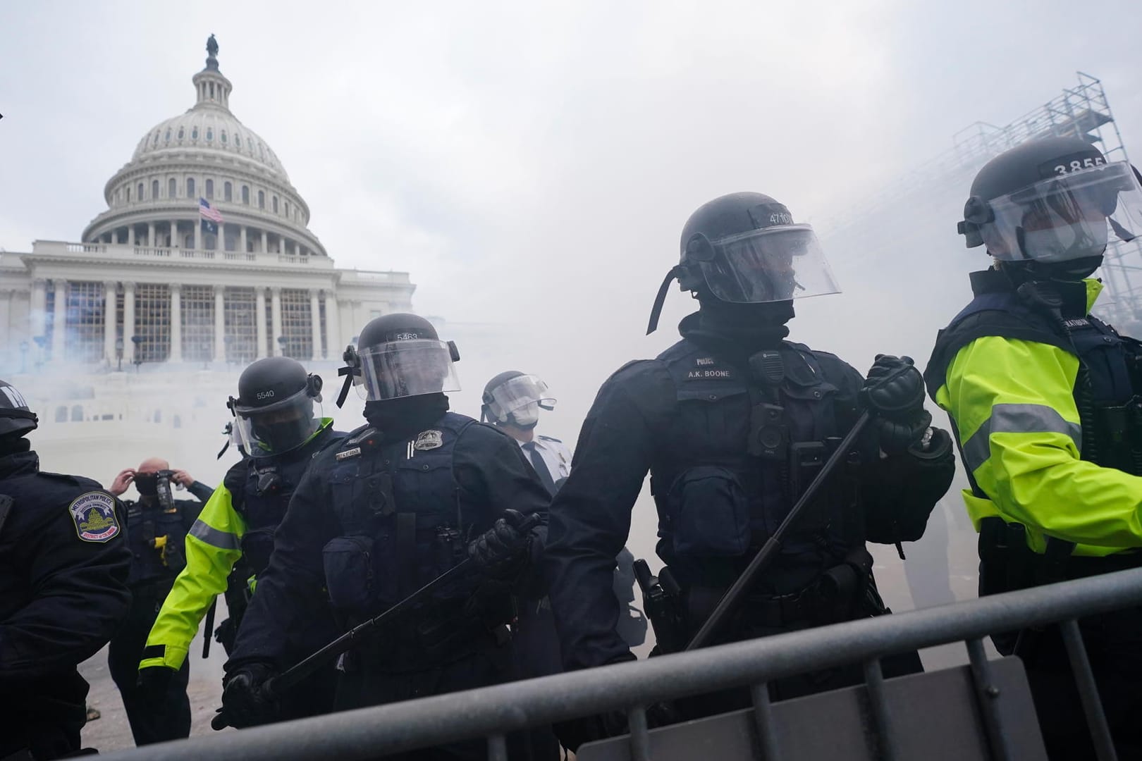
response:
[[[346,350],[346,386],[367,399],[365,426],[314,459],[274,537],[226,664],[223,706],[246,726],[267,710],[286,633],[332,606],[362,623],[466,558],[473,570],[408,616],[363,638],[340,667],[337,707],[392,703],[510,678],[513,594],[538,597],[536,556],[548,494],[520,447],[448,411],[459,388],[456,346],[416,315],[377,317]],[[484,743],[449,758],[485,758]],[[433,752],[411,758],[437,758]]]

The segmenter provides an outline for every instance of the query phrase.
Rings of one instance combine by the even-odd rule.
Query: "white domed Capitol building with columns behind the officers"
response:
[[[193,107],[143,135],[80,242],[0,253],[3,375],[331,362],[370,318],[411,310],[408,273],[333,266],[278,155],[231,112],[214,35],[207,50]]]

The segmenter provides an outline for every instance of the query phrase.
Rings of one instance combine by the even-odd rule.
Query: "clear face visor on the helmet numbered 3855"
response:
[[[988,204],[980,225],[988,253],[1005,261],[1070,261],[1142,233],[1142,187],[1115,162],[1040,180]]]

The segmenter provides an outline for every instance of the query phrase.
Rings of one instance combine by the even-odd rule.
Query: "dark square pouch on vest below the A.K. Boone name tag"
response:
[[[733,471],[683,471],[666,496],[674,551],[682,557],[737,557],[749,549],[749,500]]]

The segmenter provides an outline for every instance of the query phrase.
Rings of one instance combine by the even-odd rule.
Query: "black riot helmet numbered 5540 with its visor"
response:
[[[267,458],[309,440],[321,424],[321,377],[297,359],[266,357],[242,371],[227,403],[238,438],[251,458]]]

